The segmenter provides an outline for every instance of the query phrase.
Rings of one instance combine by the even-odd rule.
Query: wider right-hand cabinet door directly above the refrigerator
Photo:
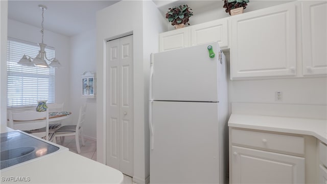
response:
[[[227,18],[205,22],[191,27],[192,45],[218,41],[221,49],[228,48]]]

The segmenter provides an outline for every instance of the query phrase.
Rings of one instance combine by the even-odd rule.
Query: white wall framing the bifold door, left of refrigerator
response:
[[[120,15],[124,12],[124,16]],[[157,15],[157,16],[155,16]],[[147,16],[147,17],[143,17]],[[157,22],[158,21],[158,22]],[[161,24],[162,22],[162,24]],[[150,52],[158,51],[158,33],[165,27],[152,1],[122,1],[97,13],[97,158],[106,163],[106,41],[133,33],[134,48],[134,174],[148,182],[148,76]]]

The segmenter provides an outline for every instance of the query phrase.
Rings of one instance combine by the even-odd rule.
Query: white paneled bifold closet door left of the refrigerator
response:
[[[107,42],[107,165],[133,176],[133,37]]]

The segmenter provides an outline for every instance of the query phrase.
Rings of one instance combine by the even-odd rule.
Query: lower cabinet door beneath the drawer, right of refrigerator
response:
[[[305,158],[231,147],[231,183],[304,183]]]

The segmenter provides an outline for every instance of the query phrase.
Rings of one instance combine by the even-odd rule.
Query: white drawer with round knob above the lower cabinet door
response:
[[[304,138],[291,135],[231,129],[231,144],[295,154],[305,153]]]

